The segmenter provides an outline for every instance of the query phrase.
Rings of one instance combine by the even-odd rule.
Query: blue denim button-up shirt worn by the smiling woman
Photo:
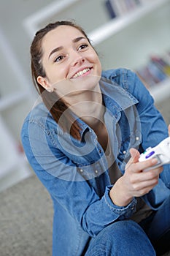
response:
[[[168,136],[168,130],[134,72],[104,71],[99,84],[112,154],[124,173],[131,147],[141,152],[156,146]],[[81,140],[63,132],[45,105],[39,103],[26,117],[21,131],[28,162],[53,199],[53,256],[83,255],[90,239],[112,222],[131,218],[136,209],[136,198],[125,207],[112,203],[109,191],[114,184],[109,180],[104,150],[93,129],[78,121]],[[143,196],[154,210],[169,196],[170,165],[163,168],[158,185]]]

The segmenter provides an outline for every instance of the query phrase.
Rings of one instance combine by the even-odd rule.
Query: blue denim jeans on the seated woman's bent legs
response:
[[[117,221],[90,241],[85,256],[154,256],[170,249],[170,197],[140,224]]]

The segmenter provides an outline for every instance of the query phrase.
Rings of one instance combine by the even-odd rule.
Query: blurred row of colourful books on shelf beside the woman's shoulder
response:
[[[152,55],[144,67],[136,69],[136,74],[149,89],[170,78],[170,53],[163,57]]]

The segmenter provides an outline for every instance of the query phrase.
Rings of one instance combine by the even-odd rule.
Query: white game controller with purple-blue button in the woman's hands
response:
[[[164,139],[154,148],[147,148],[144,153],[139,157],[139,162],[146,161],[147,159],[156,158],[158,163],[144,170],[151,170],[161,165],[170,163],[170,137]]]

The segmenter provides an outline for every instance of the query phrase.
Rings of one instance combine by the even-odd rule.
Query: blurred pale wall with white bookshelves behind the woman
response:
[[[29,48],[35,31],[75,20],[88,33],[103,69],[138,72],[170,123],[170,0],[6,0],[0,3],[0,191],[32,175],[20,143],[23,119],[37,98]]]

